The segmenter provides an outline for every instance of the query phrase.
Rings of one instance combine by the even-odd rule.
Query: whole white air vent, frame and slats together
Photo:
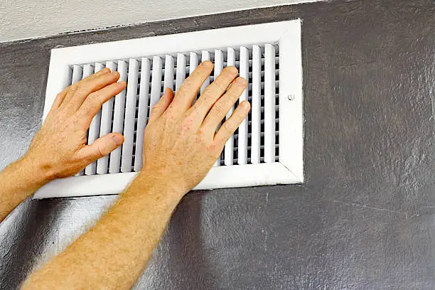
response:
[[[249,100],[252,109],[195,189],[303,182],[301,21],[295,20],[53,49],[43,118],[63,88],[107,67],[119,72],[127,89],[92,120],[88,143],[111,131],[125,141],[34,198],[120,193],[141,169],[150,109],[165,87],[176,91],[203,60],[215,68],[201,91],[222,68],[235,65],[248,81],[240,101]]]

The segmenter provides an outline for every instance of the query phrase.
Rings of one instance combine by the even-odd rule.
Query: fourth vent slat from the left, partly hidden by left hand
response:
[[[106,68],[114,72],[117,70],[116,63],[108,61]],[[112,130],[112,110],[113,110],[113,98],[108,100],[102,105],[101,122],[100,122],[100,137],[109,134]],[[103,156],[97,161],[97,174],[105,174],[109,167],[109,156]]]

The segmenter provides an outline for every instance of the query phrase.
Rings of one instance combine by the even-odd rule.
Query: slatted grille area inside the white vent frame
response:
[[[215,166],[279,161],[279,45],[268,43],[71,65],[70,83],[104,67],[117,70],[119,80],[127,82],[125,90],[103,104],[88,131],[88,144],[110,132],[124,134],[124,144],[87,166],[84,174],[140,171],[144,129],[152,107],[166,87],[176,92],[183,80],[205,60],[214,63],[214,71],[200,92],[223,68],[234,65],[248,82],[235,105],[242,100],[252,103],[249,116],[227,141]]]

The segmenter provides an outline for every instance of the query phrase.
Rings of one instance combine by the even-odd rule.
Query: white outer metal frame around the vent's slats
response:
[[[80,45],[51,50],[43,119],[58,92],[70,81],[71,65],[127,60],[151,55],[279,44],[279,161],[214,166],[194,189],[264,186],[304,182],[304,115],[301,62],[301,21],[282,21]],[[117,194],[136,173],[72,176],[48,183],[33,198]]]

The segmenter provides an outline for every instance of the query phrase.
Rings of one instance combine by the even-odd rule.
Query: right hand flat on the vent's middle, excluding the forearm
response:
[[[212,70],[210,61],[201,63],[175,97],[167,89],[151,111],[144,133],[141,172],[147,181],[151,178],[187,193],[203,180],[227,139],[247,116],[250,106],[244,101],[216,131],[247,86],[245,79],[237,77],[235,67],[222,70],[192,105]]]

